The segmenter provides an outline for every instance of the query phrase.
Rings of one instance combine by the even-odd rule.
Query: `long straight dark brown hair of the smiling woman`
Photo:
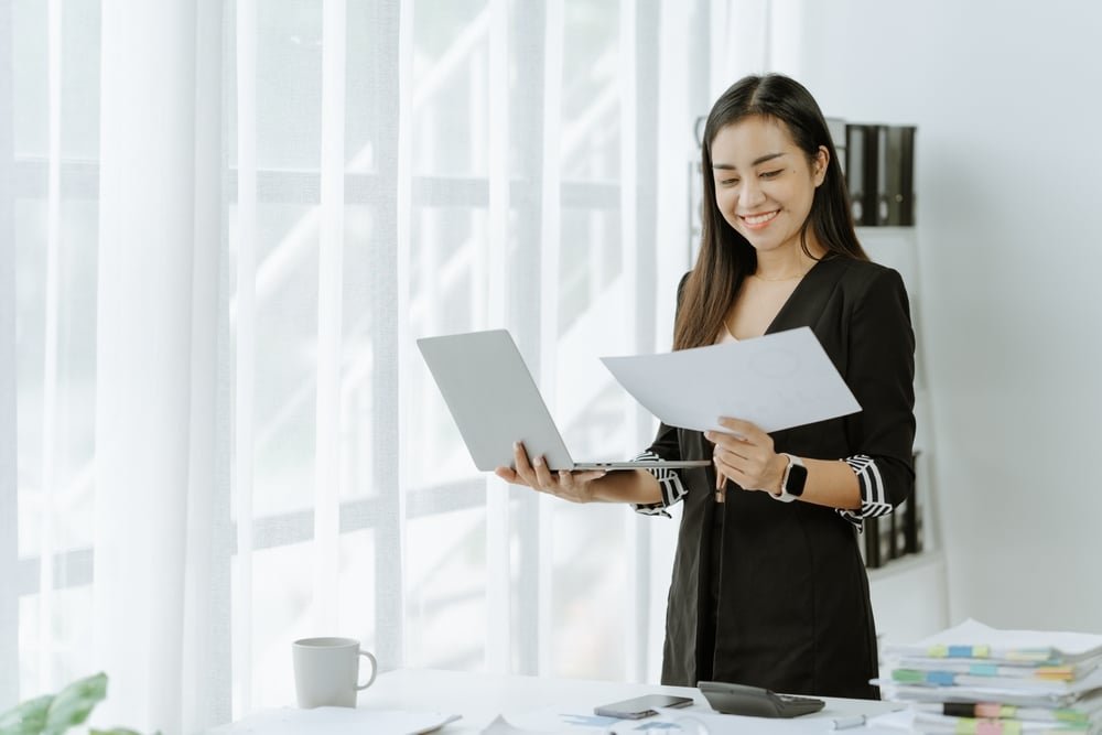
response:
[[[754,115],[782,122],[796,145],[807,154],[809,162],[819,155],[821,145],[830,153],[827,175],[815,188],[811,213],[800,230],[803,252],[813,257],[808,250],[807,241],[810,228],[815,240],[827,249],[825,257],[868,260],[853,229],[842,166],[838,161],[827,120],[814,97],[799,82],[780,74],[743,77],[715,101],[704,125],[701,144],[704,195],[700,253],[682,288],[673,331],[674,349],[712,344],[734,303],[743,279],[757,268],[757,251],[727,224],[715,204],[711,151],[712,141],[720,130]]]

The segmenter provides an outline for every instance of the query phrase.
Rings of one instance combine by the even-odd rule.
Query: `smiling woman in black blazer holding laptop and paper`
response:
[[[699,469],[558,473],[516,450],[508,482],[568,500],[683,502],[662,683],[728,681],[878,698],[862,519],[914,488],[914,355],[899,274],[869,262],[811,94],[780,75],[737,82],[704,128],[703,234],[678,290],[673,348],[808,326],[862,406],[766,434],[661,425],[640,456]],[[779,501],[778,501],[779,500]]]

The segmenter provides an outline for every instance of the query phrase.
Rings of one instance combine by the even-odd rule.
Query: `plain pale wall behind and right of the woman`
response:
[[[828,115],[919,126],[950,621],[1102,633],[1102,6],[786,0],[769,30]]]

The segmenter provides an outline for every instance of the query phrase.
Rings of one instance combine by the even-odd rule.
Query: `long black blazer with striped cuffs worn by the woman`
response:
[[[915,336],[903,279],[876,263],[824,259],[767,332],[799,326],[812,328],[862,410],[776,432],[776,451],[818,460],[868,455],[887,498],[903,502],[915,484]],[[649,451],[703,460],[712,444],[701,432],[662,424]],[[679,473],[687,494],[662,683],[695,687],[698,671],[711,670],[713,680],[775,691],[878,699],[868,683],[877,675],[876,633],[855,526],[832,508],[777,502],[734,483],[720,505],[714,467]],[[715,512],[724,514],[722,525],[713,523]],[[702,628],[713,618],[701,609],[709,599],[714,630]],[[698,640],[710,650],[698,650]]]

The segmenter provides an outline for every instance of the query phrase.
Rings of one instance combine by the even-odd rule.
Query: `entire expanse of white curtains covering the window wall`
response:
[[[201,732],[307,635],[657,679],[674,523],[477,473],[414,339],[649,443],[596,358],[669,346],[713,4],[0,4],[0,709]]]

